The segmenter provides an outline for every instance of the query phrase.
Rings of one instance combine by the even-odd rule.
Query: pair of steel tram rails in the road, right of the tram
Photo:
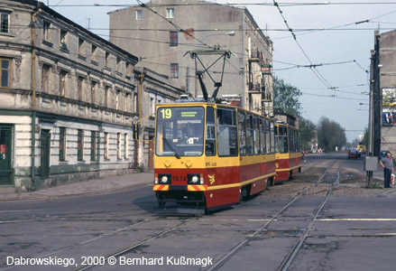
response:
[[[304,196],[308,191],[309,188],[318,185],[319,182],[324,182],[328,179],[328,176],[333,174],[334,170],[332,170],[332,167],[334,165],[336,165],[339,162],[339,160],[336,160],[333,164],[331,164],[330,167],[327,167],[326,171],[324,173],[322,173],[320,175],[320,177],[318,178],[318,180],[315,180],[314,182],[311,182],[307,187],[305,187],[304,189],[302,189],[301,191],[298,192],[298,194],[291,200],[289,201],[286,205],[284,205],[281,210],[279,210],[278,212],[276,212],[274,215],[272,215],[271,219],[267,220],[262,227],[260,227],[259,229],[256,229],[253,234],[251,234],[248,238],[245,238],[243,241],[241,241],[240,243],[238,243],[234,248],[232,248],[228,253],[226,253],[226,255],[224,255],[223,257],[220,257],[220,259],[218,259],[213,266],[210,266],[209,268],[207,268],[206,271],[215,271],[218,270],[219,268],[221,268],[222,266],[224,266],[226,264],[226,262],[228,260],[230,260],[232,257],[235,256],[236,253],[238,253],[239,250],[241,250],[242,248],[244,248],[247,244],[249,244],[250,241],[252,241],[254,238],[258,237],[262,231],[264,231],[265,229],[268,229],[269,226],[271,225],[271,223],[274,220],[277,220],[278,217],[281,216],[281,214],[285,211],[288,210],[288,208],[290,208],[290,206],[297,200],[299,200],[299,198],[301,198],[302,196]],[[318,163],[319,164],[319,163]],[[288,256],[282,261],[280,268],[278,268],[278,270],[287,270],[287,268],[290,266],[290,263],[292,262],[292,260],[294,259],[294,257],[297,255],[299,248],[301,248],[302,244],[304,243],[305,239],[308,237],[310,229],[312,229],[313,224],[315,222],[315,220],[318,218],[318,214],[319,212],[323,209],[323,207],[325,206],[328,198],[330,197],[331,193],[334,191],[334,189],[336,188],[336,185],[339,182],[339,173],[341,171],[341,167],[342,167],[342,161],[340,162],[339,166],[337,166],[337,178],[336,178],[336,182],[333,183],[332,187],[327,191],[327,194],[325,196],[325,198],[320,202],[320,204],[318,205],[318,207],[314,210],[313,215],[311,216],[310,220],[309,220],[309,226],[307,227],[306,230],[304,230],[303,234],[301,235],[301,238],[299,238],[298,242],[296,243],[296,245],[293,246],[293,248],[291,249],[290,253],[288,254]],[[286,269],[284,269],[284,267],[286,267]]]

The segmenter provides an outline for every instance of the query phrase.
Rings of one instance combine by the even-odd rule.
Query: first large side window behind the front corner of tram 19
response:
[[[238,155],[234,109],[217,108],[217,152],[219,156]]]

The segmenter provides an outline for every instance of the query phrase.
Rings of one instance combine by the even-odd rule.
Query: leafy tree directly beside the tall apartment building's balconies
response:
[[[281,111],[291,116],[301,115],[301,103],[299,96],[302,92],[299,89],[286,83],[283,79],[275,77],[273,79],[273,107],[281,108]]]

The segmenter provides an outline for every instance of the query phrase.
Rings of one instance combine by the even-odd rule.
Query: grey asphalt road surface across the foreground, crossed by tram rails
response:
[[[304,169],[331,164],[363,170],[362,160],[348,161],[345,154],[308,156]],[[0,202],[0,270],[77,270],[84,260],[97,264],[92,270],[211,270],[210,264],[233,248],[218,270],[278,270],[324,198],[302,195],[273,219],[292,200],[282,190],[293,182],[271,188],[281,196],[263,192],[201,217],[159,215],[151,187],[57,201]],[[289,270],[394,269],[395,209],[395,193],[330,196]],[[114,265],[107,258],[102,262],[115,252]],[[51,266],[15,265],[27,257],[51,260]],[[183,257],[189,265],[183,265]],[[12,261],[14,266],[8,265]]]

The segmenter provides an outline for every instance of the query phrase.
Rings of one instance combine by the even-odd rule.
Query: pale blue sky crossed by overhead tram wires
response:
[[[105,39],[109,27],[107,13],[124,6],[94,5],[136,4],[134,0],[43,2]],[[315,124],[322,116],[336,121],[345,128],[348,142],[364,132],[368,125],[369,96],[362,92],[369,92],[366,70],[370,67],[374,31],[384,33],[396,27],[396,1],[280,0],[277,3],[282,13],[270,0],[211,2],[245,5],[259,26],[266,29],[264,33],[273,42],[274,76],[301,90],[302,117]],[[290,5],[302,3],[309,5]],[[297,42],[287,31],[281,14],[296,34]],[[310,64],[318,66],[298,68]]]

